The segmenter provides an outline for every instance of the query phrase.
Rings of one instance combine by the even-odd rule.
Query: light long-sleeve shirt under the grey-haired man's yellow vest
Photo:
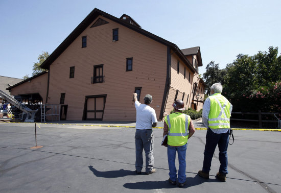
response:
[[[213,95],[213,94],[212,94]],[[211,95],[211,96],[212,96]],[[231,114],[231,111],[232,111],[232,105],[230,104],[230,108],[229,108],[229,112]],[[204,102],[204,105],[203,105],[203,111],[202,111],[202,122],[203,124],[205,125],[205,127],[207,129],[209,129],[209,123],[208,123],[208,120],[209,120],[209,112],[210,112],[210,99],[207,98]],[[226,133],[228,131],[229,128],[223,128],[223,129],[211,129],[214,133]]]

